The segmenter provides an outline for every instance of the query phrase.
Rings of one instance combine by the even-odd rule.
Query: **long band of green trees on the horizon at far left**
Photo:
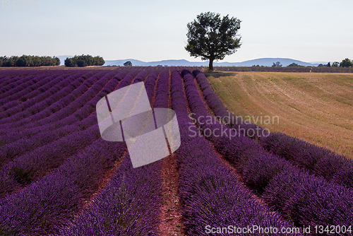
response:
[[[0,57],[0,66],[59,66],[60,59],[58,57],[39,57],[22,55],[11,57]]]

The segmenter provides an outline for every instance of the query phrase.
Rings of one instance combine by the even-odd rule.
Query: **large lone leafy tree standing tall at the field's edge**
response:
[[[213,71],[214,60],[224,59],[241,46],[241,37],[237,37],[241,21],[228,15],[221,19],[220,13],[210,11],[196,18],[187,25],[188,44],[185,49],[192,57],[210,60],[209,69]]]

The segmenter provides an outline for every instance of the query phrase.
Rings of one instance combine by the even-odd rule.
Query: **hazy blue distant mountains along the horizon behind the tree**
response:
[[[66,57],[73,56],[59,56],[61,65],[64,65]],[[131,61],[133,66],[208,66],[208,61],[187,61],[184,59],[180,60],[162,60],[162,61],[139,61],[136,59],[124,59],[124,60],[106,60],[104,66],[123,66],[126,61]],[[213,66],[272,66],[274,62],[280,61],[282,66],[288,66],[289,64],[296,63],[300,66],[318,66],[318,63],[310,63],[305,61],[299,61],[289,58],[259,58],[249,61],[242,62],[213,62]],[[325,63],[325,62],[321,62]],[[327,62],[326,62],[327,63]]]

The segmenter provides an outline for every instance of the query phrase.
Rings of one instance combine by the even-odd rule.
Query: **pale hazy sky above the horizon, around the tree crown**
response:
[[[241,48],[223,61],[353,59],[350,0],[37,0],[32,8],[14,8],[13,0],[9,2],[9,8],[8,1],[0,2],[0,56],[91,54],[106,60],[201,61],[184,49],[186,24],[201,12],[213,11],[241,20]]]

